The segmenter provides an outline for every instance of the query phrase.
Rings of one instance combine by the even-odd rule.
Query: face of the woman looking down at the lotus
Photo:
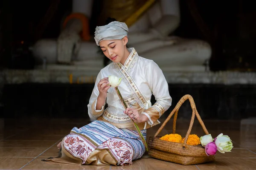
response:
[[[127,53],[127,42],[128,38],[125,36],[122,40],[102,40],[99,42],[99,46],[104,55],[111,59],[111,61],[124,64],[127,58],[125,55]]]

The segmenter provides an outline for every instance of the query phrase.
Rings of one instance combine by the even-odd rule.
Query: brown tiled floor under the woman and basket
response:
[[[165,118],[160,121],[163,122]],[[183,166],[149,157],[146,153],[142,159],[134,161],[130,166],[91,166],[69,165],[47,161],[43,158],[57,156],[56,145],[73,127],[86,125],[88,120],[51,119],[51,120],[13,120],[0,121],[0,169],[72,169],[72,170],[256,170],[256,120],[221,121],[204,120],[209,133],[213,137],[224,133],[233,140],[231,153],[217,153],[216,161],[206,164]],[[188,120],[177,121],[177,131],[185,136]],[[154,136],[160,125],[148,130]],[[160,135],[172,133],[172,119],[166,124]],[[192,134],[204,135],[195,121]]]

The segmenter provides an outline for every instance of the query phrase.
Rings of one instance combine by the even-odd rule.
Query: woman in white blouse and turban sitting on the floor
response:
[[[96,27],[96,44],[112,63],[99,72],[90,96],[88,113],[94,121],[74,127],[61,142],[61,157],[47,160],[129,165],[143,156],[145,147],[131,119],[146,138],[146,129],[160,123],[158,118],[169,109],[172,98],[158,65],[140,57],[134,48],[126,47],[127,34],[127,25],[117,21]],[[122,78],[118,88],[128,105],[126,110],[109,85],[109,75]],[[157,102],[151,106],[152,94]],[[106,103],[108,108],[104,110]]]

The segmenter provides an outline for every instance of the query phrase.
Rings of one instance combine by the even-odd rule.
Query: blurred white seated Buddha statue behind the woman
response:
[[[90,18],[92,4],[92,0],[73,0],[73,12],[84,13]],[[128,47],[134,47],[142,57],[153,59],[163,72],[204,71],[203,64],[211,56],[210,45],[202,40],[169,36],[179,23],[179,0],[157,0],[129,27]],[[47,58],[48,64],[72,61],[67,68],[99,71],[104,67],[104,57],[94,41],[79,39],[79,31],[81,23],[70,21],[57,41],[39,40],[32,48],[34,56]]]

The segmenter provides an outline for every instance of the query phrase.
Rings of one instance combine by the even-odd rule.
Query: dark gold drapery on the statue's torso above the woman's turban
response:
[[[99,22],[105,23],[108,17],[132,26],[156,0],[103,0]]]

